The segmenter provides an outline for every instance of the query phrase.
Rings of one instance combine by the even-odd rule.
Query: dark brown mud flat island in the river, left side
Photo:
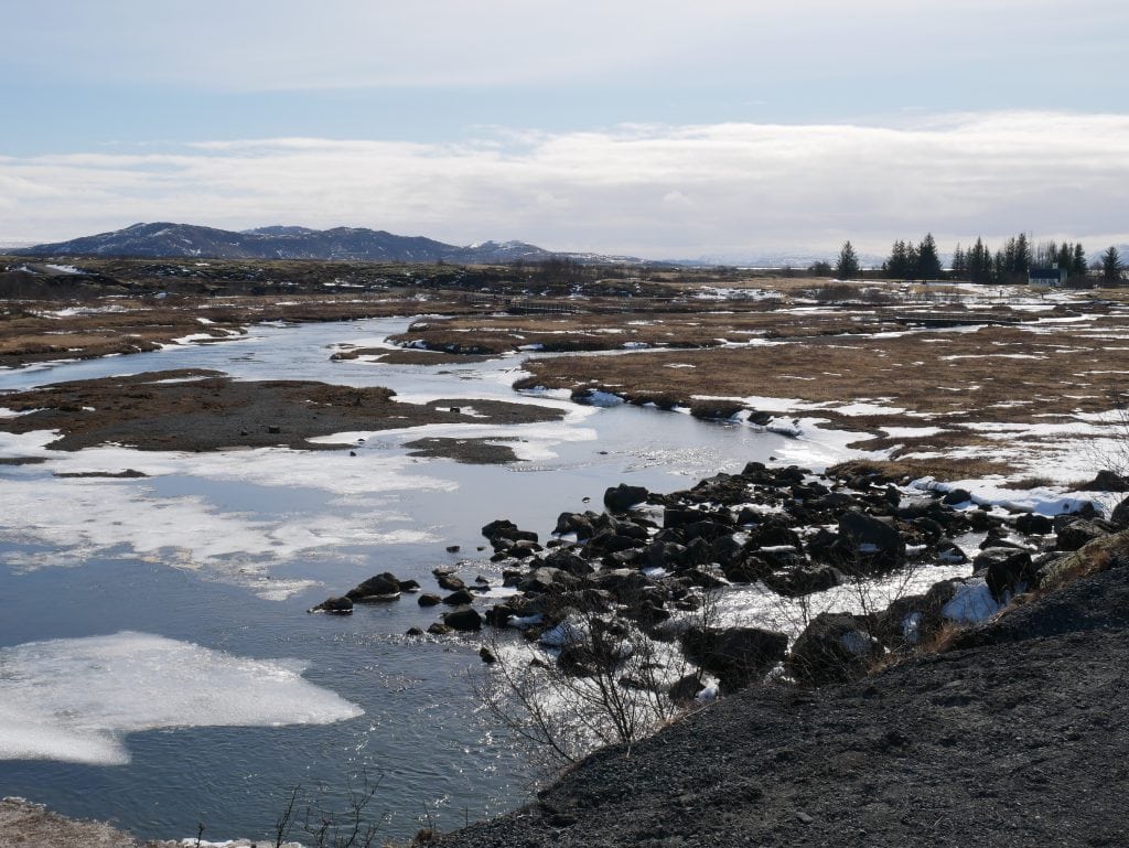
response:
[[[340,449],[348,445],[310,439],[422,425],[517,425],[558,421],[564,417],[559,409],[530,403],[489,400],[404,403],[396,400],[395,392],[382,386],[236,381],[202,369],[59,383],[0,395],[0,406],[20,413],[0,419],[0,430],[14,434],[55,430],[59,438],[49,447],[56,451],[105,444],[140,451],[271,446]],[[472,451],[471,442],[464,443],[466,452]],[[438,455],[445,456],[458,454],[461,448],[460,444],[432,446],[439,451]]]

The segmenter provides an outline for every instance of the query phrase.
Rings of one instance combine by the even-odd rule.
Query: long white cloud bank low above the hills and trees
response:
[[[0,237],[138,220],[371,226],[646,256],[832,250],[1025,230],[1129,241],[1129,115],[902,125],[624,125],[458,145],[265,139],[175,154],[0,157]],[[1109,241],[1106,241],[1109,239]],[[1094,244],[1096,248],[1099,245]]]

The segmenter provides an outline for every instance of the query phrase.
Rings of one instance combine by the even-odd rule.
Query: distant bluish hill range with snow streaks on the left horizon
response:
[[[355,262],[542,262],[569,256],[586,262],[625,257],[553,253],[525,242],[481,242],[461,247],[422,236],[356,227],[309,229],[271,226],[235,233],[191,224],[134,224],[125,229],[14,251],[21,256],[142,256],[200,259],[343,260]]]

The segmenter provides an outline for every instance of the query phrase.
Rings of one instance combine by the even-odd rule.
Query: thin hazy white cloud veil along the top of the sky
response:
[[[1123,53],[1120,0],[53,0],[10,3],[0,63],[78,80],[262,91],[610,78],[896,75]],[[905,65],[901,65],[904,70]],[[1018,69],[1017,69],[1018,70]],[[1075,69],[1064,63],[1060,72]],[[715,79],[715,81],[717,81]]]

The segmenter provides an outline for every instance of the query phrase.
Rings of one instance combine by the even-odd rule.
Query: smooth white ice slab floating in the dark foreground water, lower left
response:
[[[149,633],[0,648],[0,760],[116,766],[123,736],[161,727],[331,724],[364,713],[301,676]]]

